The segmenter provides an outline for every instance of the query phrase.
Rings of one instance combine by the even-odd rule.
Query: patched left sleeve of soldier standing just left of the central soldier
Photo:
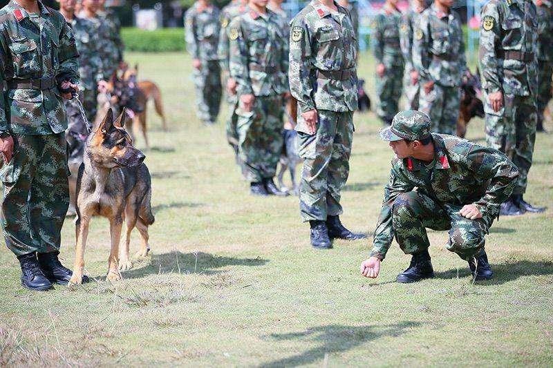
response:
[[[234,19],[229,26],[229,70],[230,77],[236,81],[238,96],[254,94],[248,67],[248,51],[240,19]]]

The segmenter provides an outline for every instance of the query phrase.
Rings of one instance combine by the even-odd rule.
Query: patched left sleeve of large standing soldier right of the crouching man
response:
[[[500,17],[498,5],[489,1],[480,12],[480,48],[478,61],[482,75],[482,88],[489,94],[501,91],[501,81],[498,75],[496,47],[500,43]]]

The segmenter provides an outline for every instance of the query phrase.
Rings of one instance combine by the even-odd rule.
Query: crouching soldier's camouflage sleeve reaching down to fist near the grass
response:
[[[371,249],[371,257],[377,257],[384,260],[386,252],[392,244],[394,237],[394,229],[392,225],[392,209],[393,202],[398,195],[412,191],[413,184],[397,170],[392,162],[392,170],[390,173],[390,182],[384,187],[384,200],[382,201],[382,209],[378,217],[375,234],[373,235],[373,249]]]

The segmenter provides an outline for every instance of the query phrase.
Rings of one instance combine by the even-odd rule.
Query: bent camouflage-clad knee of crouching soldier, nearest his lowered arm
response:
[[[447,230],[450,220],[438,204],[427,195],[411,191],[397,196],[392,207],[395,240],[406,254],[426,251],[430,242],[427,229]]]

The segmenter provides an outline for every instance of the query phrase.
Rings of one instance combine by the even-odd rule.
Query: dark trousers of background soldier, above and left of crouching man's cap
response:
[[[386,66],[383,77],[376,77],[377,110],[380,119],[391,121],[400,110],[398,104],[402,97],[402,76],[404,66]]]

